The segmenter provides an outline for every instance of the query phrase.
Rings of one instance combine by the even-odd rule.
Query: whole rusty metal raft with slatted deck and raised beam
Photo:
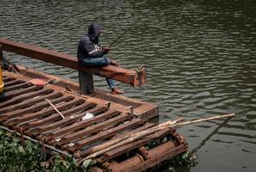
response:
[[[67,54],[5,39],[0,39],[0,45],[1,52],[16,52],[79,69],[76,58]],[[21,66],[18,69],[17,72],[3,72],[1,127],[16,131],[24,138],[41,142],[61,154],[80,160],[93,154],[101,144],[156,126],[147,122],[158,115],[158,108],[153,104],[122,95],[111,95],[98,89],[93,89],[93,95],[80,95],[78,83]],[[106,66],[80,70],[87,71],[90,75],[111,77],[133,86],[143,85],[145,82],[142,68],[131,71]],[[40,78],[45,84],[36,85],[33,78]],[[88,115],[91,117],[87,118]],[[99,166],[93,170],[144,171],[187,149],[185,139],[175,130],[166,128],[95,157]]]

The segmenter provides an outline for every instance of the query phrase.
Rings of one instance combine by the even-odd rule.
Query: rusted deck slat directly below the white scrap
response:
[[[98,116],[95,116],[92,119],[81,120],[79,122],[74,123],[71,126],[66,126],[66,127],[63,127],[63,128],[61,128],[59,130],[56,130],[54,132],[49,133],[48,136],[46,137],[46,139],[47,140],[51,140],[51,139],[60,137],[63,134],[67,134],[69,132],[74,132],[74,131],[80,130],[82,128],[85,128],[86,126],[90,126],[90,125],[93,125],[95,123],[99,123],[102,120],[106,120],[108,118],[112,118],[113,116],[116,116],[118,114],[121,114],[121,113],[118,112],[118,111],[110,111],[110,112],[107,111],[106,113],[99,114]],[[86,114],[83,114],[83,116],[84,115],[86,115]]]

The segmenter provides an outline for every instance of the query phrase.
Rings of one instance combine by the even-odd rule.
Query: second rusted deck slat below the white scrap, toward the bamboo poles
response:
[[[129,114],[121,114],[118,115],[117,117],[114,117],[110,120],[106,120],[104,122],[101,122],[97,125],[94,126],[89,126],[83,130],[80,130],[78,132],[74,132],[71,133],[67,136],[64,136],[61,138],[61,140],[59,142],[57,142],[57,144],[62,145],[62,144],[67,144],[68,142],[72,141],[72,140],[76,140],[78,138],[83,138],[86,135],[92,134],[94,132],[99,132],[100,130],[102,130],[104,127],[106,126],[112,126],[112,125],[117,125],[120,122],[124,122],[125,120],[129,120],[131,119],[132,115]]]

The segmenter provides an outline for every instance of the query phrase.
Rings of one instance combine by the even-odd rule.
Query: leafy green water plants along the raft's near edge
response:
[[[154,143],[156,146],[157,142]],[[159,144],[159,143],[158,143]],[[147,148],[153,145],[148,145]],[[42,145],[25,141],[24,146],[16,133],[7,132],[0,128],[0,171],[6,172],[81,172],[90,171],[97,163],[88,159],[78,164],[73,157],[66,157],[65,160],[60,155],[45,156],[42,153]],[[169,160],[169,170],[175,171],[176,165],[195,166],[196,157],[189,151],[173,157]]]

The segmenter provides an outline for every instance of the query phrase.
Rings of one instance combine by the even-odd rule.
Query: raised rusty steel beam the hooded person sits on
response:
[[[3,51],[16,52],[17,54],[27,56],[29,58],[39,59],[51,64],[61,65],[74,70],[79,69],[77,58],[65,53],[54,52],[39,46],[29,46],[13,40],[0,38],[0,45]],[[128,83],[132,86],[141,86],[145,83],[144,68],[138,70],[127,70],[117,66],[108,65],[105,67],[81,67],[83,71],[92,72],[101,77],[109,77],[122,83]]]

